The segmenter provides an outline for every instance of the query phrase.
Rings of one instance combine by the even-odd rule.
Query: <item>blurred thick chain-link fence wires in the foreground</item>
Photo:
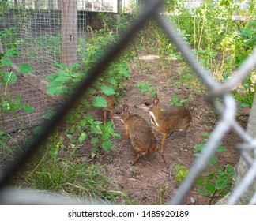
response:
[[[172,197],[171,200],[168,201],[168,204],[183,204],[184,197],[194,185],[194,182],[198,178],[199,174],[201,174],[201,171],[207,167],[209,159],[213,156],[216,148],[220,144],[221,140],[224,139],[229,129],[233,129],[244,142],[243,145],[238,144],[238,146],[235,148],[239,150],[241,158],[247,163],[248,170],[239,182],[239,185],[236,185],[235,189],[233,189],[227,204],[236,204],[239,199],[243,197],[243,194],[247,192],[248,187],[255,182],[256,146],[254,144],[254,137],[247,133],[236,121],[235,99],[229,92],[239,83],[239,81],[243,81],[243,79],[247,77],[256,66],[256,50],[254,50],[247,60],[243,62],[243,65],[236,70],[232,78],[230,78],[224,84],[218,83],[213,79],[211,73],[209,73],[204,66],[201,66],[196,58],[194,58],[194,55],[190,52],[190,48],[187,47],[186,43],[183,42],[183,39],[181,39],[181,37],[175,32],[174,25],[168,21],[167,17],[164,17],[164,15],[161,14],[160,9],[162,2],[163,1],[145,1],[146,4],[141,17],[139,17],[137,21],[129,28],[129,30],[127,30],[119,42],[113,45],[109,51],[107,51],[104,58],[102,58],[100,62],[92,69],[89,76],[81,82],[73,95],[62,104],[62,107],[58,110],[58,113],[55,114],[55,117],[51,118],[51,120],[47,122],[47,125],[45,125],[43,128],[43,132],[40,133],[35,140],[33,140],[32,144],[28,148],[25,148],[24,152],[21,152],[20,157],[13,164],[9,165],[7,170],[2,171],[0,176],[1,187],[6,185],[6,182],[9,180],[9,178],[11,178],[13,173],[17,171],[22,163],[24,163],[29,156],[36,151],[36,148],[38,148],[40,144],[42,144],[42,142],[51,134],[51,131],[56,125],[58,125],[58,122],[60,122],[68,111],[70,111],[70,108],[75,106],[77,100],[81,98],[85,90],[92,84],[92,81],[94,81],[96,77],[99,77],[100,73],[103,73],[109,63],[116,58],[118,55],[116,52],[122,51],[122,49],[126,46],[126,43],[128,43],[134,34],[141,27],[143,27],[143,25],[149,21],[149,19],[153,19],[160,24],[164,32],[183,54],[186,62],[192,69],[194,69],[194,72],[197,73],[198,77],[201,78],[205,85],[209,87],[209,94],[206,96],[206,98],[220,114],[220,120],[216,123],[213,134],[206,144],[205,151],[194,162],[193,167],[190,169],[190,174],[179,186],[178,192],[174,197]],[[216,98],[218,98],[218,100]],[[254,204],[254,201],[255,194],[250,196],[250,204]]]

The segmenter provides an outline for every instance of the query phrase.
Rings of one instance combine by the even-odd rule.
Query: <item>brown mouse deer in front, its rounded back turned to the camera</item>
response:
[[[146,122],[144,118],[130,114],[128,105],[116,107],[111,113],[111,118],[120,119],[125,128],[125,136],[120,147],[126,143],[127,137],[130,137],[130,142],[137,155],[132,165],[134,165],[137,159],[141,157],[143,152],[146,154],[149,154],[150,152],[159,152],[164,160],[164,164],[168,167],[164,155],[160,153],[160,149],[156,146],[156,137],[154,137],[148,122]]]

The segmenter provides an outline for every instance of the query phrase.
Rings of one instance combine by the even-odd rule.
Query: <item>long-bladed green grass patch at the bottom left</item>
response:
[[[48,139],[46,150],[41,149],[40,160],[33,159],[18,178],[20,183],[36,189],[49,189],[56,193],[93,197],[116,203],[126,200],[126,193],[119,191],[115,182],[101,172],[101,167],[77,157],[77,147],[63,145],[62,136],[55,132]],[[65,158],[60,158],[66,155]]]

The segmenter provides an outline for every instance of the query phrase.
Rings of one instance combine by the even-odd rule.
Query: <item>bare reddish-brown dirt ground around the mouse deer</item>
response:
[[[119,185],[120,189],[129,193],[130,199],[136,200],[137,204],[163,204],[170,200],[178,189],[178,185],[175,182],[175,165],[179,164],[187,168],[193,165],[196,159],[193,155],[194,145],[204,141],[203,133],[210,133],[214,129],[218,116],[209,104],[205,102],[205,92],[201,92],[198,95],[195,90],[188,89],[185,86],[180,88],[171,86],[174,81],[179,81],[179,77],[175,74],[179,68],[178,64],[172,64],[170,69],[165,69],[166,73],[164,74],[161,70],[159,59],[155,57],[147,59],[148,57],[141,57],[139,69],[134,66],[131,73],[132,77],[125,82],[126,92],[117,101],[116,105],[127,103],[132,114],[139,114],[149,121],[148,113],[134,108],[134,105],[141,99],[149,97],[149,94],[143,96],[140,89],[135,86],[137,82],[147,81],[156,86],[162,109],[168,108],[169,100],[175,94],[179,95],[180,99],[186,99],[191,95],[193,100],[185,103],[185,106],[192,114],[194,138],[188,130],[186,132],[177,131],[172,133],[171,137],[165,140],[164,156],[170,165],[170,174],[168,174],[163,160],[157,153],[142,156],[134,166],[131,166],[130,162],[135,159],[135,152],[131,148],[129,139],[122,148],[119,148],[122,140],[113,139],[115,151],[107,152],[107,154],[102,153],[96,163],[106,164],[106,167],[104,167],[105,174]],[[247,125],[247,114],[247,111],[243,111],[243,117],[239,118],[239,122],[243,127]],[[122,122],[115,120],[115,130],[123,137],[124,127]],[[160,146],[162,135],[158,133],[156,139],[157,144]],[[230,131],[223,140],[223,145],[228,148],[228,151],[221,155],[217,154],[219,157],[218,162],[222,167],[228,164],[235,166],[239,155],[234,147],[238,143],[239,137]],[[209,204],[209,198],[199,195],[195,189],[192,189],[184,204]]]

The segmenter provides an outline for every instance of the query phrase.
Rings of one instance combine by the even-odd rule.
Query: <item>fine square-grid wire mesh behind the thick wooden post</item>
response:
[[[12,91],[12,97],[22,95],[22,103],[26,103],[36,112],[31,114],[19,111],[17,118],[21,125],[17,124],[12,113],[4,114],[0,118],[0,129],[12,133],[20,129],[39,125],[42,122],[41,116],[47,110],[58,107],[58,100],[46,94],[47,74],[56,73],[58,69],[55,63],[62,63],[62,26],[70,23],[70,19],[76,21],[70,30],[70,24],[67,24],[67,32],[73,32],[76,35],[77,43],[67,46],[68,58],[77,58],[75,62],[81,62],[84,57],[84,51],[77,54],[77,44],[85,44],[85,0],[75,2],[75,14],[69,14],[68,21],[62,19],[62,1],[8,1],[2,2],[0,28],[1,52],[7,49],[13,49],[19,52],[12,58],[12,66],[6,67],[6,70],[18,72],[17,66],[28,63],[33,72],[20,77],[17,84],[13,87],[9,85]],[[73,24],[73,23],[72,23]],[[65,39],[66,40],[66,39]],[[68,40],[68,39],[67,39]],[[74,62],[73,62],[74,63]],[[2,92],[2,89],[0,89]]]

